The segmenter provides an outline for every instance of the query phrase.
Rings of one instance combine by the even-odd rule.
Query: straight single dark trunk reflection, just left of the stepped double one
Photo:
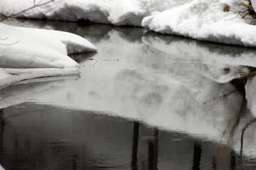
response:
[[[139,139],[140,123],[134,121],[133,123],[133,138],[132,138],[132,162],[131,169],[137,170],[137,153],[138,153],[138,139]]]

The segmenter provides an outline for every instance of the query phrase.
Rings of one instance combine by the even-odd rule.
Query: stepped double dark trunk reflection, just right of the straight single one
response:
[[[154,141],[148,141],[148,169],[157,169],[158,128],[154,128]]]

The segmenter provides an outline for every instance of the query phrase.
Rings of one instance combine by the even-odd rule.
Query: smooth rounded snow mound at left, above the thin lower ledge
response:
[[[24,68],[78,68],[67,54],[97,50],[84,38],[61,31],[0,23],[0,63]]]

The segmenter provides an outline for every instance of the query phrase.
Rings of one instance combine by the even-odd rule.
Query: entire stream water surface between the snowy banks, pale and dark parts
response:
[[[227,81],[256,66],[255,50],[134,27],[9,24],[76,33],[99,50],[72,55],[79,76],[0,91],[6,169],[256,168],[253,102],[245,81]]]

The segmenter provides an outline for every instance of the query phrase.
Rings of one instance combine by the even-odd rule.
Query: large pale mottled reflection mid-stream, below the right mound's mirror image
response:
[[[77,82],[52,82],[54,89],[30,99],[25,94],[24,102],[109,112],[227,143],[227,122],[234,120],[242,104],[232,84],[218,84],[191,63],[173,62],[176,58],[170,54],[148,50],[140,38],[125,38],[122,29],[108,36],[95,43],[98,62],[81,63]]]

